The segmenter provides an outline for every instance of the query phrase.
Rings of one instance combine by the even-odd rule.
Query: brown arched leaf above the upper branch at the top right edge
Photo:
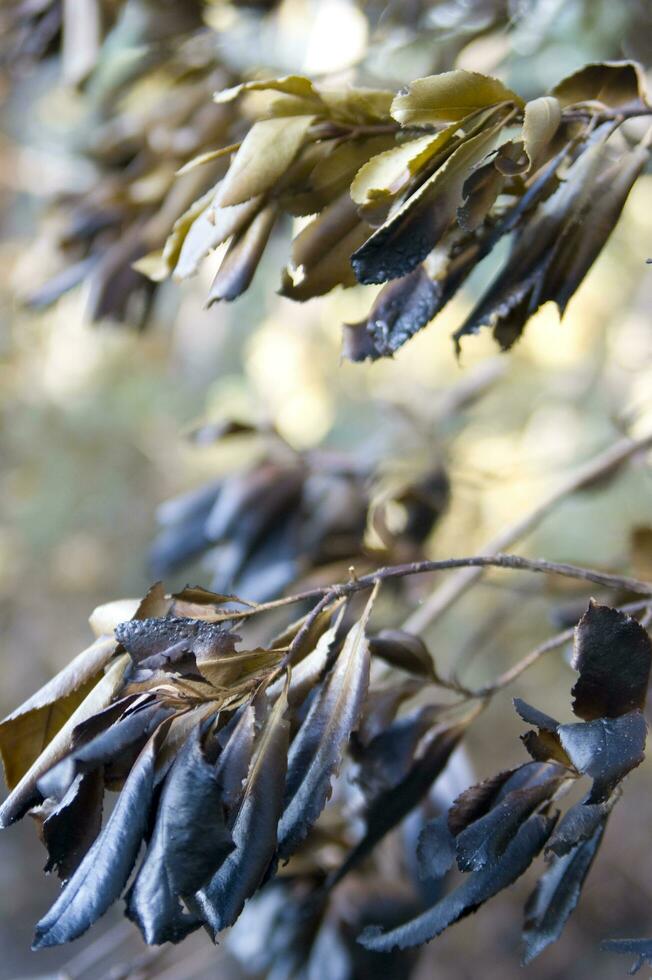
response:
[[[552,90],[562,106],[601,102],[610,109],[645,107],[645,75],[635,61],[599,61],[584,65]]]

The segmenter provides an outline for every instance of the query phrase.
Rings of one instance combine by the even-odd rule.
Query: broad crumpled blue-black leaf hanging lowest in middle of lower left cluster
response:
[[[180,942],[198,928],[201,920],[185,913],[179,899],[201,888],[233,847],[215,766],[197,727],[165,780],[154,833],[127,895],[127,916],[146,943]]]

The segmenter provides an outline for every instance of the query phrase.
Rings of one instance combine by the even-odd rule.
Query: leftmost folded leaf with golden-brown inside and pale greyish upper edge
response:
[[[0,754],[13,789],[100,680],[116,649],[100,637],[0,723]]]

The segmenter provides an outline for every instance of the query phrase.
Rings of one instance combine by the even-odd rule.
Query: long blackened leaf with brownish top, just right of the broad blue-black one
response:
[[[215,933],[238,918],[245,901],[263,880],[276,851],[290,729],[287,706],[285,692],[271,709],[261,733],[231,831],[235,850],[191,904],[191,909],[195,911],[196,906]]]

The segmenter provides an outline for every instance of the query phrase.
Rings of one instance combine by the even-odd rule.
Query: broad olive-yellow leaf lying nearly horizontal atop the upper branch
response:
[[[411,82],[392,102],[392,116],[401,126],[427,126],[455,122],[501,102],[523,105],[497,78],[458,68]]]

